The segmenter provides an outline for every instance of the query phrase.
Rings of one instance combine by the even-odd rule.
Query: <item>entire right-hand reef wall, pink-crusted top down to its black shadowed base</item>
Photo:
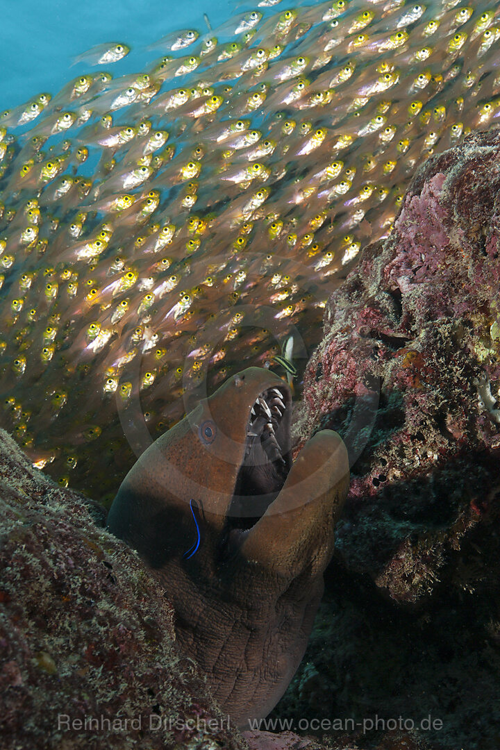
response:
[[[352,481],[279,712],[433,715],[439,748],[500,746],[499,251],[495,129],[427,160],[328,302],[295,440],[337,430]]]

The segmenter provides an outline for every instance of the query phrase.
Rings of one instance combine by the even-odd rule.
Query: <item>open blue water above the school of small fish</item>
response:
[[[106,67],[117,77],[142,71],[164,52],[145,46],[171,31],[208,29],[256,3],[238,0],[16,0],[1,7],[0,111],[23,104],[40,92],[55,95],[81,73],[103,70],[70,67],[91,46],[120,41],[132,47],[123,60]],[[186,52],[189,51],[189,48]],[[184,52],[184,54],[186,53]]]

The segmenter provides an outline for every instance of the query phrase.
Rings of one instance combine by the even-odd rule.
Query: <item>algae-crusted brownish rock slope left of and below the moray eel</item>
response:
[[[0,431],[2,750],[246,748],[163,589],[95,515]]]

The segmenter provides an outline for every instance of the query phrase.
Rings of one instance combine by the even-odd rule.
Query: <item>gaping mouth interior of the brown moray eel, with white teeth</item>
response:
[[[287,386],[257,396],[247,422],[244,458],[229,505],[228,524],[248,529],[274,502],[292,466],[292,398]]]

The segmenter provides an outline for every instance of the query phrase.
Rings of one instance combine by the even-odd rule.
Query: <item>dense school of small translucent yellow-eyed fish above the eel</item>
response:
[[[154,439],[197,389],[284,373],[415,169],[498,121],[495,1],[277,4],[0,115],[2,424],[61,484],[113,495],[138,404]]]

